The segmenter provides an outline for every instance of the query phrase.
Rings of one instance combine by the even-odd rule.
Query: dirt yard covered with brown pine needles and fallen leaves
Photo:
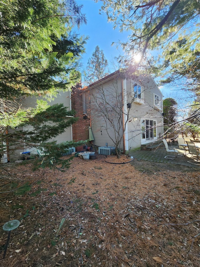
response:
[[[199,170],[129,161],[74,157],[65,172],[4,165],[0,266],[199,266]]]

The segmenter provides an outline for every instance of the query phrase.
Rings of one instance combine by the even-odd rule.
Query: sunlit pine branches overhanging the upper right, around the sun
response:
[[[162,84],[186,90],[200,102],[198,0],[103,0],[102,10],[119,31],[130,34],[119,44],[119,62],[130,72],[155,74]],[[134,56],[140,56],[136,62]],[[192,93],[191,93],[192,92]],[[199,112],[197,113],[199,116]]]

